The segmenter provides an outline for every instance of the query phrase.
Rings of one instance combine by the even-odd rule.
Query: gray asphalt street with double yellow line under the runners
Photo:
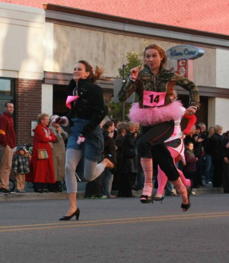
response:
[[[79,199],[79,221],[61,222],[68,201],[1,202],[0,262],[228,262],[228,194]]]

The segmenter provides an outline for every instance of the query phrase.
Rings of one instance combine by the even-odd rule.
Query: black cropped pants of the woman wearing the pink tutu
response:
[[[140,157],[153,158],[166,174],[169,181],[179,178],[177,167],[164,141],[174,132],[174,121],[166,121],[154,126],[142,127],[137,150]]]

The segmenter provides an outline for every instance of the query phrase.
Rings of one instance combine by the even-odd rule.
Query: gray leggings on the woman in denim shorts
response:
[[[75,176],[75,169],[82,157],[81,150],[67,149],[66,163],[65,163],[65,181],[67,193],[77,193],[77,180]],[[87,181],[95,180],[103,171],[105,167],[100,163],[84,160],[84,178]]]

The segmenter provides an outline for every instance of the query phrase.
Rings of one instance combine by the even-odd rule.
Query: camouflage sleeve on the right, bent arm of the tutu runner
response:
[[[181,86],[189,92],[189,107],[193,106],[199,109],[199,92],[195,83],[179,74],[175,74],[175,78],[176,85]]]

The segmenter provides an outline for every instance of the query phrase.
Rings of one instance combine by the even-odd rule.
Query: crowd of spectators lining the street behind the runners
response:
[[[5,113],[0,117],[0,129],[4,130],[5,122],[13,113],[12,103],[6,103]],[[48,158],[38,160],[37,152],[33,151],[30,164],[25,157],[25,149],[22,145],[16,147],[11,155],[11,147],[7,155],[3,155],[6,147],[6,138],[0,134],[1,142],[1,166],[0,166],[0,193],[13,193],[9,190],[10,171],[15,174],[17,192],[25,192],[25,180],[34,183],[34,191],[61,192],[58,187],[65,180],[65,155],[68,133],[60,124],[52,123],[59,116],[40,114],[38,126],[34,129],[34,146],[41,144],[38,148],[46,149]],[[5,120],[6,119],[6,120]],[[43,123],[43,125],[42,125]],[[87,182],[85,198],[105,199],[116,197],[134,197],[132,190],[142,190],[144,187],[144,173],[142,171],[137,153],[137,142],[141,137],[138,123],[120,122],[118,119],[102,121],[101,130],[104,139],[104,149],[101,160],[108,154],[112,156],[115,163],[113,169],[105,168],[95,180]],[[43,134],[43,131],[45,133]],[[11,130],[12,134],[12,130]],[[223,188],[224,193],[229,193],[229,131],[223,133],[223,127],[216,125],[206,128],[202,122],[193,125],[189,135],[183,135],[184,153],[175,160],[177,167],[183,171],[186,179],[190,179],[191,188],[204,187]],[[12,144],[12,138],[10,143]],[[15,141],[13,141],[15,144]],[[14,148],[12,144],[12,148]],[[8,148],[7,148],[8,150]],[[6,157],[12,164],[6,167]],[[9,157],[10,156],[10,157]],[[8,160],[9,161],[9,160]],[[154,175],[157,174],[157,164],[154,163]],[[154,188],[158,187],[157,177]],[[44,189],[44,186],[47,189]],[[115,190],[116,195],[111,191]],[[167,181],[165,195],[177,195],[173,185]],[[194,192],[192,192],[194,194]]]

